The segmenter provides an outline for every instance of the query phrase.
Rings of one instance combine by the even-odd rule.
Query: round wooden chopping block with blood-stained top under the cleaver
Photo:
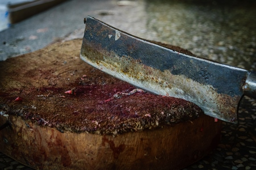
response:
[[[221,121],[94,69],[82,40],[0,62],[0,151],[36,169],[180,169],[220,141]]]

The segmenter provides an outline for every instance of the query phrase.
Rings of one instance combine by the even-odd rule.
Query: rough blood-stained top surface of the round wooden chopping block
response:
[[[121,134],[193,120],[201,109],[152,95],[79,58],[81,41],[0,62],[0,109],[60,131]]]

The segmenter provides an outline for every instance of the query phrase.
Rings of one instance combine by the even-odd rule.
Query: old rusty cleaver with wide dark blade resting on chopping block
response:
[[[93,67],[156,95],[197,104],[237,123],[243,95],[256,97],[256,72],[166,48],[87,16],[80,57]]]

